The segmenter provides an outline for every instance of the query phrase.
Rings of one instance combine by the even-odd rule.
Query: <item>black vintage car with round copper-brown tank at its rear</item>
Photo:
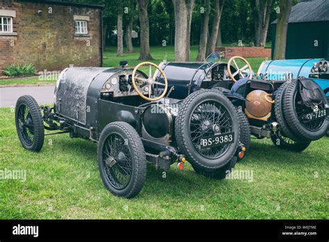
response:
[[[248,132],[257,138],[271,138],[277,147],[296,152],[305,150],[312,140],[326,135],[329,127],[328,101],[323,88],[311,79],[314,74],[311,72],[312,65],[308,70],[306,65],[296,67],[296,61],[294,65],[290,61],[286,65],[287,76],[284,79],[271,79],[273,74],[267,76],[261,73],[264,65],[261,65],[258,76],[253,77],[251,65],[241,56],[233,56],[228,63],[219,60],[220,56],[215,52],[205,62],[160,63],[159,67],[169,82],[169,97],[184,99],[200,89],[223,92],[236,107],[241,108],[240,120],[244,119],[243,113],[248,118],[240,125],[243,126],[240,140],[247,150],[250,144]],[[285,69],[282,63],[280,70]],[[302,73],[298,71],[301,69],[303,74],[307,74],[307,70],[310,73],[305,74],[307,78],[296,74],[296,79],[292,79],[294,73],[289,67],[298,74]],[[161,72],[157,72],[156,76],[158,80],[162,79]]]

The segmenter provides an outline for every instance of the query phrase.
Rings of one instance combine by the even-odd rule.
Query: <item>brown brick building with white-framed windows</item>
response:
[[[102,6],[65,1],[0,2],[0,72],[12,64],[37,70],[102,65]]]

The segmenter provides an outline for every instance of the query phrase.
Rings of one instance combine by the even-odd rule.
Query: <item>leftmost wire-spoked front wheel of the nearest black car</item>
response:
[[[22,146],[27,150],[39,152],[44,145],[44,122],[40,107],[33,97],[19,97],[15,108],[15,123]]]

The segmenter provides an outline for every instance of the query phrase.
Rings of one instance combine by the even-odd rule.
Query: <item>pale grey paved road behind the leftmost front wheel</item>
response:
[[[20,86],[0,88],[0,107],[15,106],[17,99],[22,95],[31,95],[39,104],[52,104],[54,89],[55,86]]]

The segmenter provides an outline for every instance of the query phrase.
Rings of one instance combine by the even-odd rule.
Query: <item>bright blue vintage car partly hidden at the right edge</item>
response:
[[[299,59],[264,61],[258,70],[258,79],[286,80],[305,76],[313,79],[329,97],[329,61],[324,59]]]

